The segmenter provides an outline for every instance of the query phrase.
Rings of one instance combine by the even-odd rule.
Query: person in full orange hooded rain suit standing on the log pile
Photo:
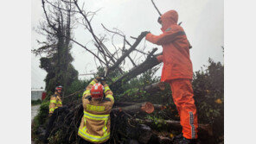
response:
[[[158,18],[163,34],[146,34],[146,40],[162,45],[163,55],[157,57],[163,62],[161,82],[170,84],[172,97],[178,110],[182,125],[181,143],[197,139],[197,114],[191,85],[192,63],[189,58],[189,41],[182,27],[177,25],[178,14],[170,10]],[[185,142],[187,141],[187,142]]]

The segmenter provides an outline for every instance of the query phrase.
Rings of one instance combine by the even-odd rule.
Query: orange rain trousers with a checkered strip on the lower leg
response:
[[[172,80],[170,89],[180,116],[183,136],[187,139],[196,139],[198,123],[191,81],[189,79]]]

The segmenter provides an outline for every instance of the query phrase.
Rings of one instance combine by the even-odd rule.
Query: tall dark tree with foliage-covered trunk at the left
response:
[[[58,11],[60,9],[55,10]],[[51,17],[48,20],[53,20],[54,24],[51,23],[54,26],[49,24],[48,21],[42,22],[43,27],[41,30],[45,33],[44,35],[46,35],[47,40],[43,42],[38,41],[42,44],[42,47],[34,49],[32,52],[35,53],[35,55],[45,55],[45,57],[40,59],[40,67],[48,73],[47,77],[44,79],[46,82],[45,90],[54,91],[55,86],[62,85],[64,87],[63,91],[66,93],[67,87],[69,87],[74,80],[78,79],[78,72],[71,64],[74,59],[70,53],[72,48],[70,37],[73,30],[70,25],[70,20],[74,14],[69,15],[56,11],[48,14],[48,16]]]

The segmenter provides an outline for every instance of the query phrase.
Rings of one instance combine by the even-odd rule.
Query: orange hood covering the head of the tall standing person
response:
[[[176,10],[170,10],[164,13],[161,16],[162,21],[162,31],[165,31],[167,28],[169,28],[171,25],[177,24],[178,22],[178,13]]]

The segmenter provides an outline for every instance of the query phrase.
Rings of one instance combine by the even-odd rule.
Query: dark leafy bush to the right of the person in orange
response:
[[[224,66],[212,59],[208,62],[205,71],[195,72],[192,82],[199,121],[207,123],[224,118]]]

